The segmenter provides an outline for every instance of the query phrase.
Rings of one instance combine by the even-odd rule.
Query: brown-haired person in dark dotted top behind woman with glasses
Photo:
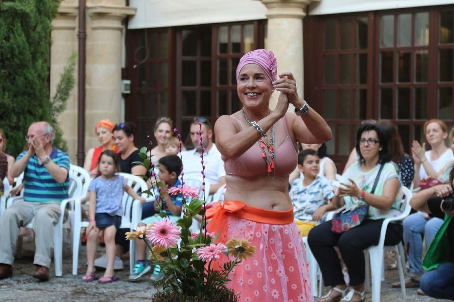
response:
[[[399,178],[402,184],[410,189],[413,178],[415,177],[415,168],[412,158],[405,153],[402,145],[401,135],[397,127],[389,120],[379,120],[377,125],[382,127],[389,136],[389,150],[391,152],[391,161],[399,167]]]

